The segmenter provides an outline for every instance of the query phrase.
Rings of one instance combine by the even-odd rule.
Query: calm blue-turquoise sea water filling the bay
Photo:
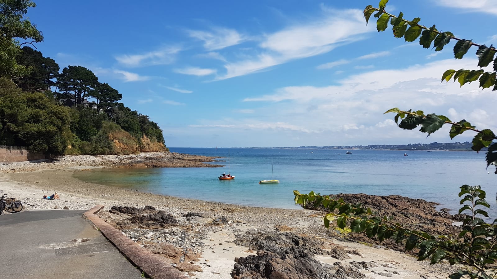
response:
[[[223,156],[228,148],[169,148],[171,152]],[[435,201],[442,207],[459,209],[459,186],[481,185],[493,205],[497,175],[493,166],[486,170],[485,152],[397,151],[337,149],[230,148],[233,180],[218,180],[228,173],[221,168],[96,169],[78,172],[81,180],[143,192],[194,198],[247,206],[297,208],[293,190],[321,194],[365,193],[402,195]],[[314,152],[314,153],[311,153]],[[339,155],[337,153],[340,153]],[[404,156],[407,153],[409,156]],[[274,179],[279,184],[258,184]],[[490,172],[490,174],[488,174]]]

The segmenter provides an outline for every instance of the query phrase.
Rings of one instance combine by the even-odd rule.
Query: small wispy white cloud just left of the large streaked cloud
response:
[[[220,50],[229,46],[240,44],[246,38],[236,30],[229,28],[215,27],[209,31],[187,30],[188,36],[204,41],[206,50]]]

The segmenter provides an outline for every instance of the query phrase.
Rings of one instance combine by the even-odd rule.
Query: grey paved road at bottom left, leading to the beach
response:
[[[82,210],[33,210],[0,215],[0,277],[138,279],[141,272]],[[84,239],[78,242],[73,239]]]

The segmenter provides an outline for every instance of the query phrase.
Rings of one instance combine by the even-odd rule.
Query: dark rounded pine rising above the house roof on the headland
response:
[[[84,100],[91,98],[98,85],[98,77],[82,66],[69,66],[62,70],[57,77],[57,86],[60,92],[59,96],[68,96],[75,100],[76,106],[81,106]]]

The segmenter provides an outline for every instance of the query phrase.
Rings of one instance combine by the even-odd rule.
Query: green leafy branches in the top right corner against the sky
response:
[[[419,17],[415,17],[413,20],[404,19],[404,13],[402,11],[398,16],[395,16],[385,10],[387,2],[388,0],[381,0],[377,8],[372,5],[368,5],[364,8],[363,13],[366,18],[366,24],[374,13],[374,17],[378,18],[376,21],[376,29],[378,32],[385,31],[388,28],[388,23],[390,21],[392,31],[396,38],[404,37],[406,42],[414,42],[419,37],[419,45],[426,49],[429,49],[433,45],[435,51],[443,50],[451,40],[455,40],[457,42],[454,45],[453,51],[454,58],[456,59],[462,59],[471,47],[478,47],[478,50],[476,51],[478,67],[485,68],[493,62],[493,71],[485,71],[482,69],[446,70],[442,75],[442,81],[449,81],[453,77],[454,81],[457,79],[459,84],[463,86],[466,83],[479,80],[479,87],[482,89],[494,86],[492,91],[497,90],[497,59],[494,60],[497,49],[493,47],[493,45],[487,47],[486,45],[474,43],[472,39],[457,38],[450,31],[438,31],[434,24],[431,27],[426,27],[419,24],[419,21],[421,20]]]

